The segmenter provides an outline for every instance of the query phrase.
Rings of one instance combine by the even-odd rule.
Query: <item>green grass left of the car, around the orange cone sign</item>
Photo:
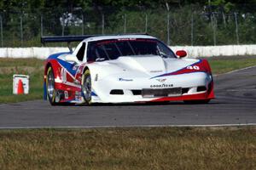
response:
[[[13,94],[13,75],[30,76],[27,95]],[[0,59],[0,103],[43,99],[44,61],[41,59]]]

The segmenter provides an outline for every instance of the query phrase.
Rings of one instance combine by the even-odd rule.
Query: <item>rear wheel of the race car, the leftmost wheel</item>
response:
[[[50,105],[56,105],[55,102],[55,75],[51,66],[47,70],[46,78],[47,97]]]

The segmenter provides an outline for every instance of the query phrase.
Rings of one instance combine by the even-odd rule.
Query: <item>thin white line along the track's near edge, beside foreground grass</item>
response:
[[[67,126],[67,127],[0,127],[0,129],[38,129],[38,128],[113,128],[113,127],[244,127],[256,123],[212,124],[212,125],[128,125],[128,126]]]

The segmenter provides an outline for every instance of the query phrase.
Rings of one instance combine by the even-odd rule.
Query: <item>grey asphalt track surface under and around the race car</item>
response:
[[[256,125],[256,66],[214,77],[208,105],[50,106],[35,100],[0,105],[0,128]]]

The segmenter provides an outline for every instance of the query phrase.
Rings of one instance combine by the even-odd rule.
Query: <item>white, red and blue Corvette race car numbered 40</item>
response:
[[[81,41],[81,42],[80,42]],[[45,62],[44,99],[60,103],[130,103],[214,98],[210,65],[184,59],[148,35],[42,37],[41,42],[80,42]]]

